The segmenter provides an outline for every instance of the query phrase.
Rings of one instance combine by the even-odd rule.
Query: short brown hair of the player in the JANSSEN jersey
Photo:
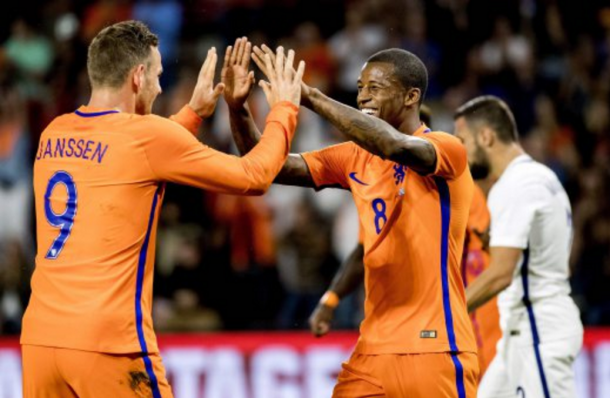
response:
[[[119,88],[135,66],[149,62],[159,38],[139,21],[104,28],[89,45],[87,71],[91,86]]]

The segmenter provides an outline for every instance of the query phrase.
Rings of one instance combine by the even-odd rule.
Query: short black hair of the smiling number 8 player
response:
[[[417,55],[400,48],[390,48],[371,55],[367,62],[392,64],[394,74],[405,89],[419,89],[419,104],[422,104],[428,89],[428,70]]]

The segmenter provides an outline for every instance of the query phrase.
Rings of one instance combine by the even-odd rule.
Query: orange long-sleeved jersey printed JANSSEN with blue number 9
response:
[[[262,194],[288,156],[297,112],[275,105],[243,158],[201,144],[188,107],[175,122],[87,107],[56,118],[34,164],[38,250],[21,343],[158,352],[152,275],[164,182]]]

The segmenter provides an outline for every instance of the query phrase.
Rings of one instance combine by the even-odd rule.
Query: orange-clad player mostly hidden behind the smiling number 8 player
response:
[[[431,112],[422,105],[419,116],[421,121],[431,125]],[[462,256],[462,278],[468,286],[489,266],[489,254],[485,251],[481,235],[489,229],[489,211],[482,189],[475,185],[468,227]],[[331,285],[322,296],[309,318],[311,331],[316,336],[323,336],[330,330],[335,308],[343,297],[353,292],[364,279],[363,246],[360,242],[337,271]],[[490,300],[477,311],[470,314],[472,327],[477,342],[481,377],[489,366],[496,352],[496,343],[502,336],[496,300]]]

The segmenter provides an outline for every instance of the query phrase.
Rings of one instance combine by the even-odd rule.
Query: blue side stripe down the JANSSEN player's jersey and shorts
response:
[[[146,230],[146,236],[144,237],[144,243],[140,249],[140,256],[138,259],[138,274],[136,278],[136,329],[138,331],[138,340],[140,341],[140,348],[142,349],[142,355],[144,365],[146,366],[146,373],[150,379],[150,388],[154,398],[161,398],[161,391],[159,390],[159,382],[157,376],[153,370],[152,361],[148,357],[148,347],[146,346],[146,339],[144,338],[144,328],[142,324],[142,286],[144,284],[144,271],[146,269],[146,255],[148,253],[148,243],[150,241],[150,234],[152,232],[153,221],[155,219],[155,213],[157,210],[157,202],[159,194],[161,193],[162,185],[159,185],[153,198],[152,208],[150,210],[150,218],[148,219],[148,228]]]

